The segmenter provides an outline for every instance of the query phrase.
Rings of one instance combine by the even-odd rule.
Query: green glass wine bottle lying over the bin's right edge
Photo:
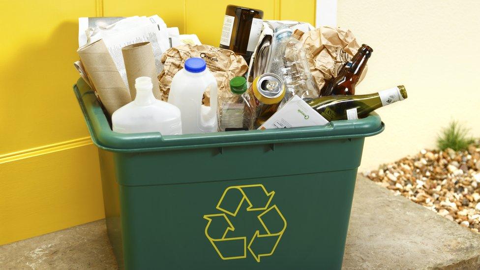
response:
[[[364,118],[376,109],[407,98],[404,86],[366,95],[322,96],[308,101],[308,105],[329,121],[351,119],[352,113]],[[356,111],[356,112],[355,112]]]

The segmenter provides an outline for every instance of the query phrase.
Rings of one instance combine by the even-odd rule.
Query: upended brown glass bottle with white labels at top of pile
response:
[[[250,64],[250,58],[262,30],[262,19],[263,11],[260,9],[227,5],[220,48],[234,51]]]

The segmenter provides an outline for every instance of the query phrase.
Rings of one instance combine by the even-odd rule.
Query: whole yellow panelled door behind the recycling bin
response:
[[[71,88],[77,18],[158,14],[218,45],[229,3],[315,21],[314,0],[2,1],[0,244],[104,216],[97,152]]]

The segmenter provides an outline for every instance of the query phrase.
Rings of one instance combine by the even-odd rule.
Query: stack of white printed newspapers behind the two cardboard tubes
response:
[[[160,59],[163,52],[170,48],[170,39],[167,25],[158,15],[150,17],[133,16],[120,20],[118,20],[118,18],[112,20],[103,18],[104,20],[101,21],[102,24],[117,21],[107,26],[98,25],[98,22],[95,22],[95,27],[85,29],[87,25],[90,25],[91,18],[88,19],[89,23],[86,24],[85,18],[79,18],[79,44],[81,44],[80,42],[84,42],[85,39],[89,44],[103,39],[127,88],[129,88],[128,79],[121,48],[135,43],[150,42],[157,73],[163,70]],[[83,36],[83,32],[85,33],[85,37]]]

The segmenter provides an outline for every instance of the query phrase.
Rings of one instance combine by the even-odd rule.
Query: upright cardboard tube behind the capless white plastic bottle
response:
[[[157,99],[162,99],[162,93],[157,80],[157,69],[153,57],[153,49],[150,42],[140,42],[121,48],[125,71],[127,73],[128,88],[132,100],[135,99],[137,90],[135,89],[135,79],[146,76],[151,78],[153,84],[153,95]],[[155,83],[157,82],[157,83]]]

